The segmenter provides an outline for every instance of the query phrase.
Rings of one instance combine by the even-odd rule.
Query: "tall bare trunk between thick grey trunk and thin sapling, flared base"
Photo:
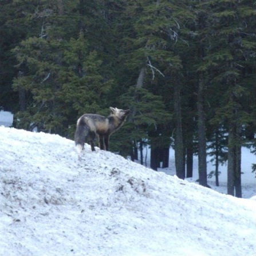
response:
[[[198,172],[199,184],[207,185],[207,164],[206,164],[206,125],[204,117],[204,81],[202,74],[198,82]]]

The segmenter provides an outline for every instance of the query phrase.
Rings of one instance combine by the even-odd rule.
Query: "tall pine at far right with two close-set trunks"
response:
[[[255,49],[251,27],[255,24],[254,10],[248,1],[210,1],[203,5],[208,10],[211,25],[207,29],[209,44],[204,67],[216,74],[212,85],[225,88],[216,113],[229,127],[227,192],[241,197],[242,133],[243,127],[251,121],[251,109],[243,104],[243,100],[249,96],[249,86],[253,86],[246,85],[245,81]]]

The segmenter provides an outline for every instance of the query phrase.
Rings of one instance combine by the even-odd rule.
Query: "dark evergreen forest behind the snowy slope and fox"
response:
[[[14,127],[73,139],[83,113],[129,108],[111,150],[207,185],[227,160],[242,196],[241,147],[255,149],[255,2],[1,0],[0,106]],[[139,159],[141,163],[144,157]]]

